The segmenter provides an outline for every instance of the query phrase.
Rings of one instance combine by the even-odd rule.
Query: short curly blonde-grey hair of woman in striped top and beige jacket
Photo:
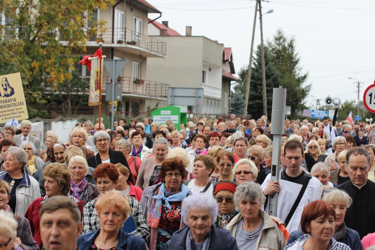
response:
[[[265,195],[259,183],[253,181],[245,181],[237,186],[234,192],[234,204],[238,209],[239,201],[241,200],[256,201],[264,204]]]

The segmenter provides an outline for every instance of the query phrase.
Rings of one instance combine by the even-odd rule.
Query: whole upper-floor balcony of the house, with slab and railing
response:
[[[145,57],[165,57],[166,43],[127,28],[103,28],[102,33],[91,36],[86,46],[97,46],[101,39],[103,47],[115,47],[121,51]],[[122,43],[118,43],[121,40]]]

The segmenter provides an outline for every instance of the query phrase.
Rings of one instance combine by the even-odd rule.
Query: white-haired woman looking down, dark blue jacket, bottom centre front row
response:
[[[227,230],[215,226],[217,204],[212,196],[195,193],[183,200],[182,218],[186,226],[173,233],[164,249],[238,249]],[[195,247],[194,247],[195,246]]]

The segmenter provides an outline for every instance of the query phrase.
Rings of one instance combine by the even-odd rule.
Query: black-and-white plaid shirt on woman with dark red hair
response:
[[[129,198],[129,206],[131,209],[131,214],[133,215],[135,221],[136,221],[136,229],[132,231],[131,233],[143,238],[144,240],[147,240],[149,236],[149,229],[147,222],[142,214],[142,208],[139,204],[139,202],[131,197],[128,196]],[[96,199],[91,200],[90,202],[87,202],[86,205],[83,207],[83,228],[82,232],[90,232],[90,231],[96,231],[97,229],[100,228],[100,222],[99,218],[97,217],[96,214],[96,209],[95,209],[95,202]]]

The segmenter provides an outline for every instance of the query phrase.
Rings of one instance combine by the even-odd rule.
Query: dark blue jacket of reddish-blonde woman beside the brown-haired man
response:
[[[93,245],[95,238],[99,235],[100,229],[92,232],[86,232],[78,237],[77,245],[79,250],[89,250]],[[126,233],[122,230],[118,232],[118,250],[146,250],[146,242],[133,234]]]

